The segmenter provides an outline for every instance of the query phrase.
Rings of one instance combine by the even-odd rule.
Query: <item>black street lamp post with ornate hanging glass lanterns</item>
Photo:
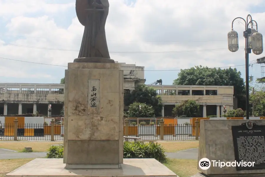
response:
[[[261,33],[258,32],[258,24],[252,20],[251,15],[248,15],[246,20],[242,17],[237,17],[232,21],[232,30],[228,32],[228,50],[236,52],[239,48],[238,33],[233,30],[233,24],[236,19],[242,19],[245,22],[245,63],[246,63],[246,119],[249,119],[249,54],[252,52],[260,55],[263,52],[263,39]],[[238,21],[239,22],[239,21]],[[256,26],[256,29],[253,28]]]

